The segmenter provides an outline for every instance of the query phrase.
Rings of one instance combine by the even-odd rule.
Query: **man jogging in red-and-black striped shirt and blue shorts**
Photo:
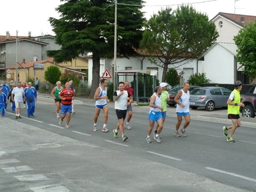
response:
[[[69,128],[69,122],[72,113],[72,100],[74,100],[74,92],[70,88],[69,82],[65,83],[65,88],[60,92],[59,97],[61,99],[61,116],[59,125],[62,124],[63,119],[67,115],[65,128]]]

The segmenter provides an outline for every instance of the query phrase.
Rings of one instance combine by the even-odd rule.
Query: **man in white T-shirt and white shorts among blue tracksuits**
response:
[[[21,82],[18,81],[17,87],[13,88],[12,90],[12,101],[15,102],[15,119],[21,118],[21,103],[25,100],[25,98],[24,89],[21,87]]]

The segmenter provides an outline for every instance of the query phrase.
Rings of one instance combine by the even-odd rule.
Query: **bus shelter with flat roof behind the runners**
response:
[[[133,95],[133,99],[136,101],[136,104],[139,103],[140,99],[143,99],[143,101],[145,102],[147,100],[147,102],[149,102],[149,98],[146,95],[146,74],[148,74],[147,70],[118,70],[115,71],[116,73],[116,85],[121,81],[126,81],[127,77],[133,77],[133,82],[134,82],[134,95]],[[143,95],[139,96],[139,74],[144,74],[144,78],[143,78]],[[123,77],[123,78],[122,78]],[[153,81],[153,88],[156,87],[156,76],[154,77],[154,81]],[[154,90],[154,89],[153,89]]]

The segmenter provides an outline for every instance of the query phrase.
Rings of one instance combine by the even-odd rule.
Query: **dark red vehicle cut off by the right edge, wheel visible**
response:
[[[244,107],[240,108],[242,116],[254,118],[256,115],[256,85],[250,88],[245,95],[241,95]]]

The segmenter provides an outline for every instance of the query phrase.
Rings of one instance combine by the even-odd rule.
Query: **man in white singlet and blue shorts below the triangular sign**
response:
[[[101,79],[100,81],[100,86],[97,88],[93,99],[96,100],[95,102],[95,115],[94,115],[94,125],[93,125],[93,131],[97,131],[97,120],[100,115],[100,109],[103,110],[104,113],[104,122],[103,122],[103,127],[102,131],[103,132],[108,132],[107,129],[107,122],[108,122],[108,96],[107,96],[107,86],[108,86],[108,81],[107,79]]]

